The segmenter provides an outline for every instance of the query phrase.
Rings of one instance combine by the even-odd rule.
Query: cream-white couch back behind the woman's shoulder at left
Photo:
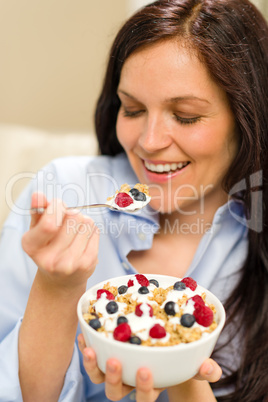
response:
[[[95,136],[89,132],[53,132],[0,124],[0,227],[10,211],[6,189],[10,193],[12,188],[11,198],[15,200],[29,181],[15,180],[20,173],[35,173],[60,156],[95,155],[97,149]]]

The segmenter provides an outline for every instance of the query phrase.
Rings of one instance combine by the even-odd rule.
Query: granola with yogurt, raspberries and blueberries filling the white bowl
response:
[[[105,292],[98,289],[99,298],[92,296],[88,312],[83,317],[89,325],[92,318],[97,318],[99,326],[96,331],[117,341],[128,342],[135,337],[135,342],[139,341],[136,344],[143,346],[194,342],[215,330],[216,309],[206,303],[206,294],[197,284],[193,286],[195,281],[192,278],[185,279],[190,287],[180,286],[179,282],[167,288],[156,287],[142,274],[133,275],[119,287],[107,282],[102,288]],[[149,285],[144,286],[144,283]],[[109,292],[115,297],[112,301],[107,298]],[[107,307],[109,302],[116,307],[114,310],[111,310],[111,305]],[[128,325],[118,328],[122,322]]]

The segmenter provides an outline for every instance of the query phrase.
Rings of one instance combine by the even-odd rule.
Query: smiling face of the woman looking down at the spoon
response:
[[[125,62],[117,137],[160,212],[194,214],[226,201],[221,183],[237,150],[225,92],[194,51],[169,40]]]

